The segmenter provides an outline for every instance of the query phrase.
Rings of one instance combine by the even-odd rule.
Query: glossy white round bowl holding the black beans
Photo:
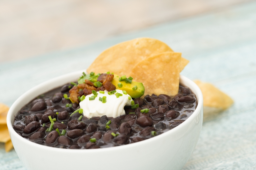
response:
[[[20,96],[7,115],[13,146],[28,170],[181,169],[196,147],[203,122],[203,96],[190,79],[180,76],[180,83],[196,95],[195,112],[179,126],[150,139],[127,145],[100,149],[62,149],[40,145],[21,137],[14,129],[14,117],[28,102],[54,88],[75,81],[82,71],[48,80]]]

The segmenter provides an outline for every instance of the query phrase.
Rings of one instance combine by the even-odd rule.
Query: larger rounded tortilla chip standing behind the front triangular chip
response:
[[[128,76],[135,64],[163,52],[173,52],[173,50],[159,40],[137,38],[116,44],[103,51],[90,65],[87,72],[105,73],[110,71],[117,75]],[[180,71],[187,64],[187,60],[182,59],[181,64]]]

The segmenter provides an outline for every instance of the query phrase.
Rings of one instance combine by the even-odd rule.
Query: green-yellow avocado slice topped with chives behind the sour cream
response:
[[[113,78],[113,80],[111,81],[111,83],[116,86],[116,89],[125,90],[127,92],[127,94],[129,94],[132,98],[141,97],[144,95],[144,92],[145,92],[145,88],[142,83],[136,82],[136,81],[132,81],[132,83],[126,83],[125,81],[119,81],[119,77],[116,77],[116,75]],[[121,87],[121,88],[118,87],[118,83],[122,83],[123,87]],[[137,86],[138,88],[136,90],[132,90],[132,88],[134,86]]]

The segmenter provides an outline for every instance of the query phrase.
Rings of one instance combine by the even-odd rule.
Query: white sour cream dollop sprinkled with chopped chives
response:
[[[108,95],[108,91],[105,90],[102,94],[97,92],[98,95],[95,100],[89,100],[89,97],[93,94],[85,96],[85,99],[80,102],[80,108],[83,109],[84,116],[87,118],[101,117],[106,115],[107,117],[116,118],[118,116],[125,115],[124,106],[131,106],[131,100],[128,99],[130,95],[124,94],[122,90],[116,89],[116,93],[120,93],[123,96],[116,97],[116,93]],[[102,103],[99,98],[106,96],[107,102]]]

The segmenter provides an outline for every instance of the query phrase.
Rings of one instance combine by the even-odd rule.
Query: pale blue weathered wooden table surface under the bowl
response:
[[[256,169],[256,2],[157,25],[71,50],[0,63],[0,102],[9,106],[33,86],[87,68],[107,47],[137,37],[166,42],[190,63],[181,72],[210,82],[234,100],[204,121],[183,170]],[[0,145],[0,170],[25,170],[15,150]],[[171,169],[171,167],[170,167]]]

